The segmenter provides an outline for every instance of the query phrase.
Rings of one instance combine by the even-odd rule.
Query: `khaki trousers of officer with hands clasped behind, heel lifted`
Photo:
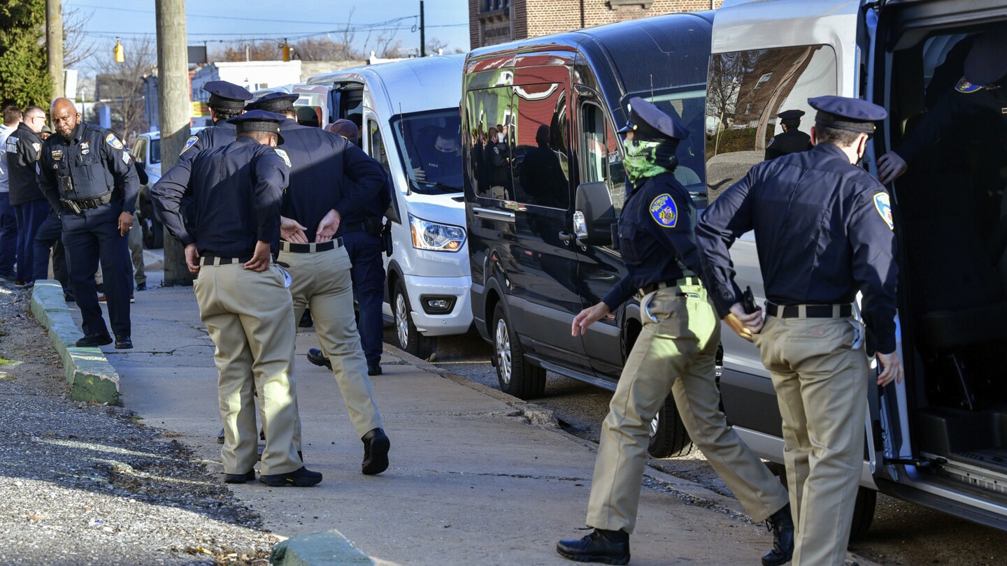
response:
[[[282,246],[278,261],[290,266],[294,280],[290,286],[294,320],[301,319],[306,307],[311,308],[315,333],[322,352],[332,363],[332,374],[356,435],[363,437],[373,429],[384,428],[371,392],[361,334],[356,331],[351,264],[346,249],[294,254],[284,252]]]

